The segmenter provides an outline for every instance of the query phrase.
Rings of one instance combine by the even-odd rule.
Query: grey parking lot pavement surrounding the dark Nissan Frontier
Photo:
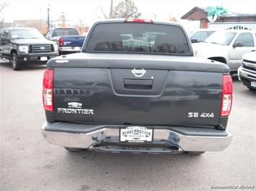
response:
[[[25,65],[14,72],[0,63],[0,190],[211,190],[255,184],[256,92],[237,76],[228,126],[234,136],[224,152],[71,154],[40,133],[44,69]]]

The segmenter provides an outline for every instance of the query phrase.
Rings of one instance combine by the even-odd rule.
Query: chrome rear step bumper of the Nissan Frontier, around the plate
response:
[[[152,143],[124,146],[119,141],[121,127],[126,126],[45,123],[42,126],[42,134],[49,143],[60,146],[101,152],[136,153],[219,152],[229,146],[232,137],[229,131],[209,128],[151,126],[154,129]],[[147,144],[149,146],[145,146]]]

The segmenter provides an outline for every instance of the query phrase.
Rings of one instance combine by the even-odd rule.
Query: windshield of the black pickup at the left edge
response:
[[[43,34],[41,34],[37,29],[12,29],[11,39],[43,39]]]

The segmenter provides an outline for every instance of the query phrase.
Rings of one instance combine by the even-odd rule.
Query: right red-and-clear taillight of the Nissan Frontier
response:
[[[232,106],[233,83],[230,75],[223,75],[221,116],[229,116]]]

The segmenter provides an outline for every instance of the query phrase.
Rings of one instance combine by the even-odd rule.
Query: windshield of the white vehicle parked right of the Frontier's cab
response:
[[[208,37],[205,42],[218,44],[218,45],[230,45],[232,39],[234,39],[234,36],[236,36],[237,32],[214,32],[211,34],[210,37]]]

